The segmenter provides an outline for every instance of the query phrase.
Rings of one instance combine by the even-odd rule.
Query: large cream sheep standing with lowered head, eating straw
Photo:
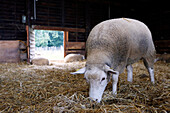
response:
[[[143,60],[154,84],[155,47],[148,27],[135,19],[118,18],[103,21],[90,32],[85,67],[71,74],[84,74],[90,84],[89,96],[100,102],[112,75],[112,93],[117,94],[118,76],[127,68],[132,82],[132,64]]]

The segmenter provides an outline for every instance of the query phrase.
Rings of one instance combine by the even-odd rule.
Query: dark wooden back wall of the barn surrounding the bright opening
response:
[[[170,53],[170,9],[166,2],[1,0],[0,7],[0,52],[3,53],[0,62],[30,61],[35,56],[34,30],[64,31],[64,56],[85,55],[85,42],[91,29],[104,20],[122,17],[144,22],[152,32],[157,53]]]

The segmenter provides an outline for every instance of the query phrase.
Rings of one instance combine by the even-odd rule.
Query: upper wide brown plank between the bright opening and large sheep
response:
[[[85,49],[85,42],[66,42],[66,49]]]

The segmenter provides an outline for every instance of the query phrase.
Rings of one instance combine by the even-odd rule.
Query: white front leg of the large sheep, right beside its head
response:
[[[116,94],[117,94],[118,78],[119,78],[119,73],[116,73],[116,74],[113,74],[113,75],[112,75],[112,79],[113,79],[113,84],[112,84],[113,95],[116,95]]]

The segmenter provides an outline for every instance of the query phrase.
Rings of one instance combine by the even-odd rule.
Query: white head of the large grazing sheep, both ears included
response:
[[[89,96],[92,100],[100,102],[103,92],[110,80],[110,74],[115,74],[116,71],[110,69],[109,66],[86,66],[71,74],[84,74],[86,81],[90,85]]]

